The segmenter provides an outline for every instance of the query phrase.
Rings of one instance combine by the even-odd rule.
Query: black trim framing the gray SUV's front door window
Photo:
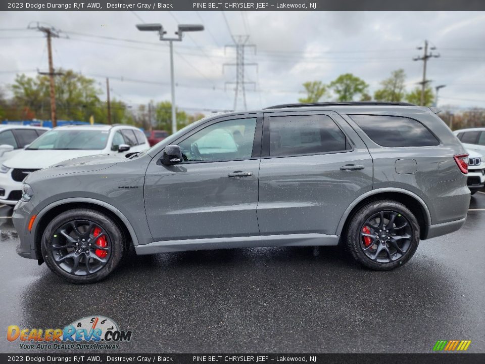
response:
[[[175,140],[172,145],[178,145],[179,143],[183,142],[185,139],[190,138],[193,134],[205,129],[208,126],[218,124],[223,121],[229,120],[239,120],[239,119],[256,119],[256,129],[254,131],[254,139],[253,139],[253,152],[251,154],[251,158],[241,158],[241,159],[230,159],[230,160],[223,160],[223,161],[184,161],[180,164],[175,165],[182,165],[182,164],[195,164],[195,163],[224,163],[224,162],[236,162],[236,161],[245,161],[245,160],[254,160],[261,158],[261,142],[262,142],[262,134],[263,134],[263,113],[245,113],[245,114],[235,114],[235,115],[221,115],[214,119],[207,120],[205,123],[198,125],[196,128],[193,128],[187,131],[185,134],[180,136],[179,139]],[[163,165],[160,159],[163,156],[163,151],[165,148],[160,150],[157,153],[155,159],[157,160],[158,165]],[[167,166],[165,166],[167,167]]]

